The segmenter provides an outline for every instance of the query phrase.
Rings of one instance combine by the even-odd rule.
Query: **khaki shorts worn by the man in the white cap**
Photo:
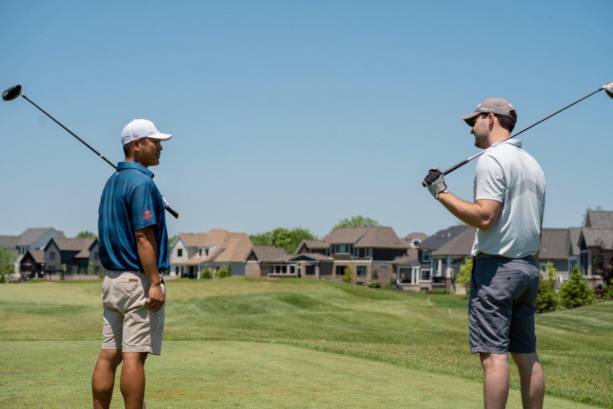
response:
[[[166,300],[166,283],[160,276]],[[147,306],[149,280],[144,272],[108,271],[102,281],[102,349],[161,354],[164,311]]]

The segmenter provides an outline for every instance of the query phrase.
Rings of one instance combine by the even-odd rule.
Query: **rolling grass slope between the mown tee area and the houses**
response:
[[[0,286],[0,340],[98,340],[100,292],[99,282]],[[482,380],[478,358],[468,353],[467,302],[461,297],[234,277],[170,281],[167,300],[166,340],[300,346],[416,370],[422,377]],[[608,302],[537,316],[548,396],[613,407],[612,313]],[[414,381],[403,384],[411,388]],[[513,368],[511,388],[519,389]],[[394,383],[390,393],[398,393]],[[480,398],[474,386],[471,393]]]

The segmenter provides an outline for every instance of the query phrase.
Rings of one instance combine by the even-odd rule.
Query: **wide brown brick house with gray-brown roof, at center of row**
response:
[[[409,248],[392,227],[341,227],[321,240],[302,240],[294,254],[268,262],[261,277],[341,281],[349,266],[357,284],[395,283],[394,260]]]

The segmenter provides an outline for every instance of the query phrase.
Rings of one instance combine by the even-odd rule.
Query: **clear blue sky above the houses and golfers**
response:
[[[422,188],[473,155],[460,115],[487,97],[516,130],[613,81],[613,2],[13,1],[0,88],[23,93],[113,162],[120,132],[162,132],[151,168],[169,234],[319,236],[364,215],[399,235],[457,223]],[[519,139],[547,179],[547,227],[613,210],[613,100],[598,93]],[[0,234],[97,231],[112,169],[23,98],[0,104]],[[447,177],[473,196],[474,162]]]

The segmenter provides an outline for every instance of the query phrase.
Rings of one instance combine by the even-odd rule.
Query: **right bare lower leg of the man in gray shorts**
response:
[[[522,387],[522,406],[524,409],[543,409],[545,396],[545,374],[536,353],[511,353],[519,369]]]

